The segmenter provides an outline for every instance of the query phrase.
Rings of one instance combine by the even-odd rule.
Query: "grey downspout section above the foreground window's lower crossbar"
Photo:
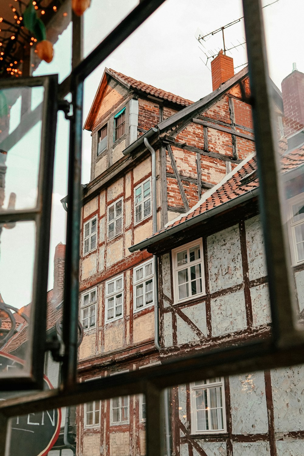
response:
[[[157,231],[157,203],[156,203],[156,154],[153,147],[149,144],[147,138],[144,138],[144,145],[151,152],[152,161],[152,222],[153,234]],[[160,351],[160,328],[159,328],[159,300],[158,300],[158,261],[157,255],[153,255],[154,263],[154,343],[158,351]]]

